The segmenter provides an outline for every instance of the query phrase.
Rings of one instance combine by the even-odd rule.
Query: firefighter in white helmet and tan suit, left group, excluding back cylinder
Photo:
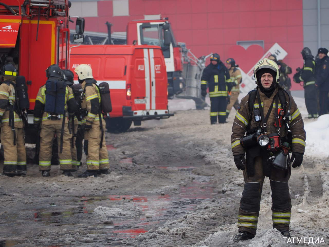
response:
[[[74,72],[78,75],[82,86],[81,128],[84,133],[84,151],[87,159],[87,170],[79,178],[109,174],[109,155],[105,143],[105,120],[100,112],[101,97],[96,86],[97,81],[92,77],[89,65],[80,64]]]

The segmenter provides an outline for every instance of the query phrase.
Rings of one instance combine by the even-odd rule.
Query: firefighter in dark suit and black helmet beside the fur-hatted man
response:
[[[294,74],[293,79],[296,83],[303,82],[308,118],[317,118],[314,56],[308,47],[304,47],[301,54],[304,59],[304,66],[303,69],[297,69],[299,71]]]

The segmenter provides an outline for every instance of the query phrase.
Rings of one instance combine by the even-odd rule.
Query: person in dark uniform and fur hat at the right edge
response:
[[[326,48],[319,48],[317,51],[319,58],[316,60],[316,83],[319,91],[319,116],[328,113],[329,94],[329,57]]]

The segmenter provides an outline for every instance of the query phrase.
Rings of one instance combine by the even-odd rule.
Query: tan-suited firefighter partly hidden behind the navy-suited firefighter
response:
[[[230,72],[230,77],[233,85],[231,93],[229,93],[228,97],[229,100],[227,102],[228,105],[226,108],[226,118],[228,118],[232,107],[237,110],[239,106],[238,96],[240,94],[240,83],[242,82],[242,75],[237,67],[239,67],[239,65],[235,64],[235,60],[233,58],[229,58],[226,60],[226,68]]]

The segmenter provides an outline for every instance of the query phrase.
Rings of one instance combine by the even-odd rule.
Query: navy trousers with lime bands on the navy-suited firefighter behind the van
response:
[[[210,97],[210,122],[224,124],[226,121],[227,96]]]

